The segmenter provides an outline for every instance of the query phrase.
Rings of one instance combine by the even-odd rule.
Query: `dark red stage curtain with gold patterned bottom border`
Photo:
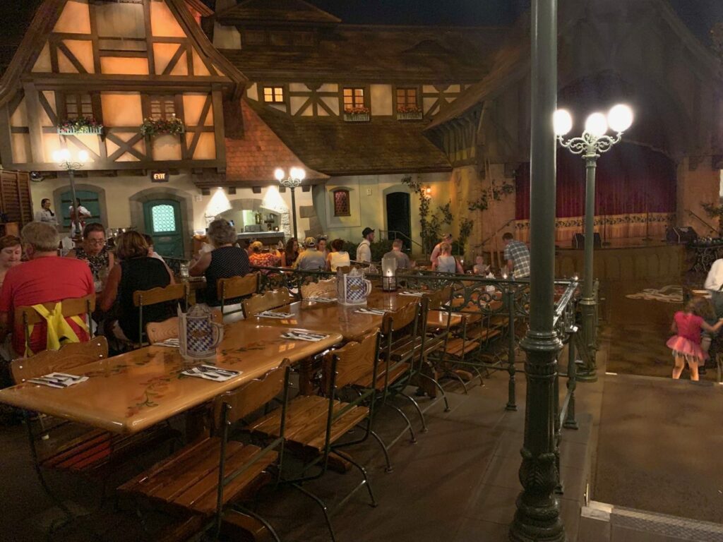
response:
[[[620,142],[604,153],[597,165],[596,230],[607,238],[643,237],[646,231],[651,236],[664,235],[676,206],[676,171],[672,160],[646,147]],[[515,184],[515,218],[518,229],[524,230],[530,215],[529,164],[518,168]],[[584,208],[585,161],[559,148],[557,228],[563,231],[558,231],[558,240],[567,240],[582,231]]]

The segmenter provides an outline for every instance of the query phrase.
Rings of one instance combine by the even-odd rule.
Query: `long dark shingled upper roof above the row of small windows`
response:
[[[221,52],[252,80],[477,82],[508,29],[339,25],[315,47]],[[460,53],[464,51],[464,53]],[[301,77],[301,79],[300,79]]]

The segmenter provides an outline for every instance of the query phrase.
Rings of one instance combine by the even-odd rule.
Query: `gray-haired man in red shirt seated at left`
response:
[[[61,258],[58,232],[42,222],[31,222],[22,228],[22,248],[30,259],[8,270],[0,291],[0,339],[11,332],[14,309],[53,303],[63,299],[85,297],[94,293],[90,267],[80,259]],[[71,319],[67,322],[81,341],[89,340],[85,330]],[[46,349],[47,325],[36,324],[30,335],[30,349],[37,353]],[[25,331],[22,324],[12,329],[12,348],[16,357],[25,352]]]

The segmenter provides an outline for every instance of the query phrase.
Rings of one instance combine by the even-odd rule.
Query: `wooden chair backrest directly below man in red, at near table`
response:
[[[74,367],[108,358],[106,337],[94,337],[87,343],[71,343],[60,350],[44,350],[32,358],[19,358],[10,363],[12,379],[16,384],[42,377],[55,371],[70,371]]]

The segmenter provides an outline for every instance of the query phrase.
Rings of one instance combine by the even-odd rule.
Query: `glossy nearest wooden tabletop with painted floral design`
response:
[[[72,387],[25,382],[0,390],[0,403],[116,433],[136,433],[261,377],[284,358],[301,361],[342,340],[333,332],[317,343],[288,340],[282,332],[251,322],[227,325],[216,358],[210,361],[242,371],[226,382],[181,375],[190,365],[178,349],[148,346],[72,369],[73,374],[90,377]]]

